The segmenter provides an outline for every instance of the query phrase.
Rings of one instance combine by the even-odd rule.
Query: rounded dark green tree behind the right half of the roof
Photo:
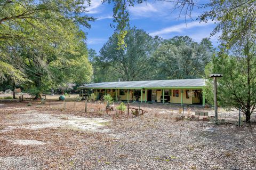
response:
[[[188,36],[167,39],[154,52],[154,79],[201,78],[214,53],[209,39],[194,42]]]

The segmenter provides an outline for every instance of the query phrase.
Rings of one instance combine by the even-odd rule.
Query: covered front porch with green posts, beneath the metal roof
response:
[[[86,88],[81,94],[94,93],[97,100],[104,95],[111,95],[115,101],[141,102],[141,103],[180,103],[202,104],[205,106],[205,96],[202,88],[173,87],[173,88]]]

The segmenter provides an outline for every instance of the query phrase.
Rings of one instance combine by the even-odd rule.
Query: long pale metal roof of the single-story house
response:
[[[130,82],[103,82],[84,84],[78,88],[120,88],[120,89],[141,89],[141,88],[197,88],[205,86],[203,78],[196,79],[173,79],[173,80],[147,80]]]

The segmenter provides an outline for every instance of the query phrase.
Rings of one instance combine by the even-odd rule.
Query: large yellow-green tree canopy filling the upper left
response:
[[[78,25],[90,27],[87,21],[93,18],[85,15],[84,3],[87,1],[1,3],[1,79],[36,89],[36,98],[63,82],[90,82],[92,66],[87,60],[85,34]]]

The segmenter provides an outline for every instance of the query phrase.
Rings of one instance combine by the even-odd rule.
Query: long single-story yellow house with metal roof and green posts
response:
[[[78,87],[82,94],[94,93],[97,99],[110,94],[114,100],[139,102],[169,102],[205,105],[205,81],[197,79],[103,82]]]

